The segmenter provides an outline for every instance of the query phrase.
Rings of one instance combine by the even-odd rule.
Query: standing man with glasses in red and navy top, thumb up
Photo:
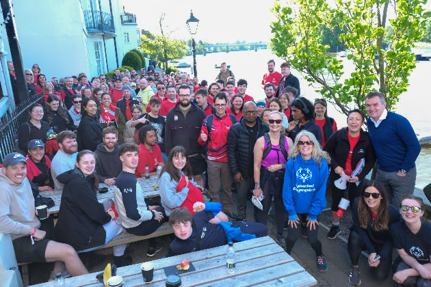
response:
[[[205,90],[203,91],[205,92]],[[196,92],[196,94],[198,94],[198,92]],[[228,164],[227,135],[231,126],[236,124],[237,118],[235,118],[235,115],[226,113],[227,102],[224,92],[215,95],[215,113],[209,115],[203,121],[198,143],[200,146],[208,144],[207,173],[209,196],[213,202],[220,202],[220,178],[222,178],[223,212],[231,219],[236,220],[238,217],[232,210],[232,177]]]

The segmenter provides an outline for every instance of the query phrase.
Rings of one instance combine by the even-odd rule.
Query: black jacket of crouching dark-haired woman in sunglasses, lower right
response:
[[[378,254],[382,256],[382,258],[391,258],[389,256],[392,256],[392,249],[393,249],[393,243],[391,240],[391,232],[389,231],[389,227],[397,222],[400,221],[400,213],[398,210],[391,206],[389,204],[389,225],[387,230],[373,230],[371,227],[373,225],[373,217],[371,213],[369,213],[368,217],[368,224],[367,229],[361,228],[359,225],[359,218],[358,218],[358,202],[360,198],[356,197],[356,199],[353,202],[352,207],[352,227],[350,230],[354,230],[357,232],[365,244],[367,245],[367,251],[369,253],[377,253],[376,249],[378,250]]]

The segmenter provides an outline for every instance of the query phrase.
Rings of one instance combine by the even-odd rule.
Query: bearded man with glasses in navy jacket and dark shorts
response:
[[[168,86],[174,89],[172,86]],[[190,87],[179,88],[179,103],[166,115],[165,147],[166,154],[174,146],[183,146],[187,159],[192,165],[193,179],[203,187],[202,173],[206,169],[202,147],[199,145],[200,128],[205,120],[205,112],[192,104]]]

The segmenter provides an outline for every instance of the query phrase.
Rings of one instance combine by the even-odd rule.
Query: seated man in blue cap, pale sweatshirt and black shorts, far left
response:
[[[0,172],[0,233],[10,234],[16,261],[55,262],[50,279],[63,271],[72,276],[88,274],[77,252],[68,244],[49,240],[53,221],[36,217],[34,197],[27,179],[27,162],[18,152],[3,159]]]

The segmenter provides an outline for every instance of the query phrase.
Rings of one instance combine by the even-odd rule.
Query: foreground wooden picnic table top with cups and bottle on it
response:
[[[189,254],[161,258],[152,261],[155,265],[154,279],[145,283],[139,264],[117,269],[125,287],[128,286],[165,286],[164,267],[180,264],[187,259],[195,267],[181,275],[181,286],[315,286],[316,279],[304,270],[269,236],[234,243],[235,273],[226,271],[226,245],[196,251]],[[66,279],[66,286],[103,287],[96,275],[100,272]],[[51,286],[49,283],[35,287]]]

